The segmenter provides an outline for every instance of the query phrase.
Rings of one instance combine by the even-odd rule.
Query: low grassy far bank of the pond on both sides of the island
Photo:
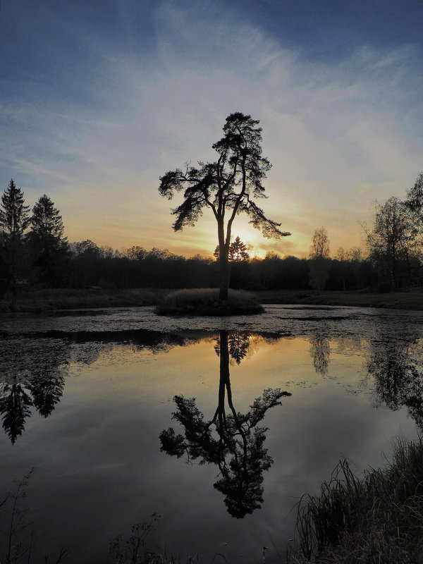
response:
[[[181,290],[185,291],[185,290]],[[190,292],[192,290],[189,290]],[[207,293],[208,289],[198,290]],[[157,305],[174,290],[137,288],[133,290],[33,290],[18,295],[16,312],[42,313],[56,309],[92,307],[132,307]],[[302,290],[265,290],[252,292],[262,304],[347,305],[423,310],[423,292],[346,293]],[[11,299],[0,300],[0,313],[11,312]]]

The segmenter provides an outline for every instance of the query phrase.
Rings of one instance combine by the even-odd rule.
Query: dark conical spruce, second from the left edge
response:
[[[68,240],[63,237],[59,209],[46,195],[32,208],[27,243],[33,257],[35,278],[45,286],[61,286],[67,278]]]

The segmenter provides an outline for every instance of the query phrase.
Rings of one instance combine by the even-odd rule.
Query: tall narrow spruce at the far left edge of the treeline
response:
[[[23,266],[23,233],[29,221],[29,206],[25,206],[24,201],[22,190],[16,188],[12,178],[1,196],[0,248],[6,266],[8,286],[13,290],[13,299],[16,295],[18,274]]]

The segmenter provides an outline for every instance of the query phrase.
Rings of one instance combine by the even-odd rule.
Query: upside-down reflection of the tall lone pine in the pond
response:
[[[269,388],[255,399],[245,415],[237,412],[233,405],[229,360],[232,357],[238,364],[241,362],[247,354],[246,341],[238,336],[231,339],[228,331],[220,331],[215,349],[220,359],[220,379],[214,417],[205,421],[195,398],[175,396],[176,411],[172,418],[182,425],[185,436],[169,427],[160,434],[160,450],[178,458],[186,455],[188,462],[199,458],[200,464],[216,464],[221,477],[214,487],[225,496],[228,513],[245,517],[261,507],[263,472],[269,470],[273,462],[264,448],[268,429],[256,426],[269,408],[281,405],[280,398],[291,394]],[[212,434],[213,428],[216,435]]]

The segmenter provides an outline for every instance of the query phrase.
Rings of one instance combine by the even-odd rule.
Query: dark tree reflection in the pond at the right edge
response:
[[[423,431],[423,341],[375,340],[371,344],[367,371],[374,378],[376,405],[391,410],[407,407]]]

